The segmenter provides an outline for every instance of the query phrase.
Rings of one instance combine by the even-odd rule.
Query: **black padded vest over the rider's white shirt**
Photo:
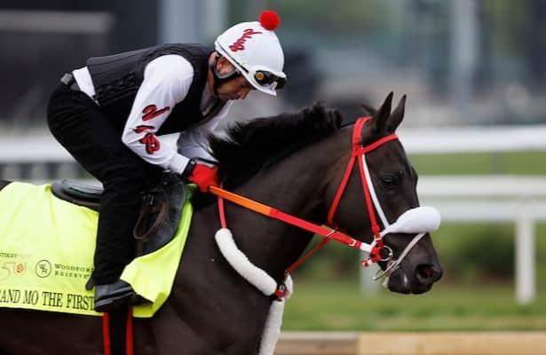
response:
[[[211,52],[210,48],[201,44],[177,43],[90,58],[87,60],[87,67],[96,92],[93,99],[99,102],[104,113],[115,122],[120,131],[123,130],[138,88],[144,80],[146,65],[162,55],[178,54],[194,67],[194,80],[186,98],[171,107],[169,117],[162,123],[157,134],[180,132],[204,119],[200,104],[202,91],[207,83]]]

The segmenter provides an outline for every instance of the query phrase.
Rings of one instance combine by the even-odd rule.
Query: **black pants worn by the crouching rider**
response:
[[[125,146],[123,128],[93,100],[62,83],[51,94],[47,122],[59,143],[103,184],[93,280],[98,285],[113,282],[134,257],[132,228],[140,193],[158,181],[162,169]]]

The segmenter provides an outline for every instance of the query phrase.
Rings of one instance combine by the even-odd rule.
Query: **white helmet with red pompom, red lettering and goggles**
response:
[[[284,54],[279,38],[273,32],[280,23],[277,12],[265,10],[259,21],[242,22],[218,36],[216,51],[257,90],[276,95],[286,83],[282,72]]]

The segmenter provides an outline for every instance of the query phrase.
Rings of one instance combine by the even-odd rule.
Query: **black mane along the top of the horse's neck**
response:
[[[234,122],[226,136],[209,139],[211,154],[218,161],[218,177],[226,187],[238,185],[297,148],[338,130],[340,122],[337,111],[321,104],[296,113]]]

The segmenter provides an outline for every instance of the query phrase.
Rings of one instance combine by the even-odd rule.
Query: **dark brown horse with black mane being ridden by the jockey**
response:
[[[341,114],[320,103],[235,123],[226,136],[210,138],[218,176],[228,191],[316,225],[329,220],[335,231],[352,236],[353,244],[373,244],[379,212],[362,193],[359,168],[347,168],[352,138],[357,137],[361,146],[373,146],[391,137],[369,150],[366,162],[376,199],[392,224],[419,207],[417,173],[393,136],[404,117],[405,102],[406,96],[392,110],[391,93],[378,109],[363,106],[371,118],[356,134],[354,124],[342,125]],[[338,193],[342,181],[344,188]],[[213,236],[221,224],[214,201],[210,194],[194,196],[192,225],[170,296],[153,318],[134,319],[135,354],[257,354],[275,297],[264,296],[241,278],[218,250]],[[278,284],[313,239],[309,231],[229,201],[225,218],[238,248]],[[396,231],[384,235],[385,250],[388,247],[394,258],[404,254],[389,270],[390,290],[421,294],[440,279],[431,234],[421,234],[411,250],[412,235]],[[387,259],[378,256],[383,270],[392,266]],[[103,353],[99,317],[4,308],[0,329],[0,353],[6,355]]]

